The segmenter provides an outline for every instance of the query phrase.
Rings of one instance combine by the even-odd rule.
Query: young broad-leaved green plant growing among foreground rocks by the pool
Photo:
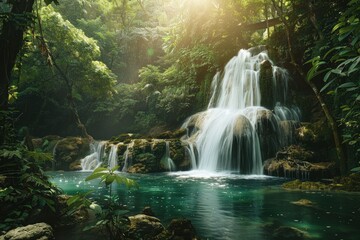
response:
[[[95,203],[90,205],[90,208],[96,213],[98,221],[95,225],[85,227],[84,231],[96,229],[108,236],[109,239],[124,239],[124,233],[130,224],[129,219],[124,215],[128,211],[120,203],[119,197],[112,194],[112,184],[116,182],[124,184],[126,187],[138,187],[138,185],[134,180],[116,172],[118,168],[119,166],[111,169],[98,167],[85,179],[85,181],[100,179],[100,183],[105,184],[105,187],[108,188],[109,194],[104,196],[106,205],[103,209]]]

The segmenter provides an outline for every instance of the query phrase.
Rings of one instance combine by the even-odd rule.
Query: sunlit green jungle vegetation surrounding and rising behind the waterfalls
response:
[[[0,182],[17,186],[6,201],[56,212],[30,136],[179,128],[216,71],[258,45],[289,69],[300,108],[321,109],[346,174],[360,155],[359,16],[359,0],[0,1]]]

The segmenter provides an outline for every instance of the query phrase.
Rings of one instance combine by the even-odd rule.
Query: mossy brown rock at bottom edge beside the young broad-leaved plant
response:
[[[165,231],[164,226],[156,217],[145,214],[130,216],[130,227],[126,235],[130,239],[157,239]]]

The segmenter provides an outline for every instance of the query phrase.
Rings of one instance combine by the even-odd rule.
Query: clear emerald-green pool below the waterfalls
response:
[[[106,194],[97,181],[84,182],[89,172],[48,174],[67,194],[96,190],[94,200]],[[270,239],[266,226],[274,223],[296,227],[311,239],[355,240],[360,236],[360,194],[286,191],[280,186],[285,179],[230,173],[127,176],[140,188],[115,186],[114,190],[131,214],[150,206],[164,225],[172,218],[186,217],[202,239]],[[314,206],[291,203],[300,199]]]

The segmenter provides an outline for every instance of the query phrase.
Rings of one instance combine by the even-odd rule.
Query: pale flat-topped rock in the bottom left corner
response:
[[[0,236],[3,240],[51,240],[54,239],[53,229],[46,223],[36,223],[18,227]]]

